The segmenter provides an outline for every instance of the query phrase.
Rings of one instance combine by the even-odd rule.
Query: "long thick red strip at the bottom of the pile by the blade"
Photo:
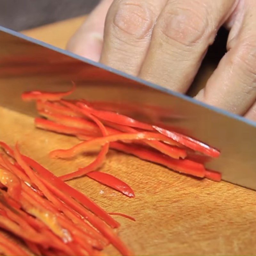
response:
[[[111,142],[111,148],[114,148],[125,153],[138,156],[141,159],[164,165],[174,171],[186,173],[192,176],[201,177],[205,176],[205,168],[203,164],[187,159],[172,159],[169,156],[165,156],[161,153],[154,152],[147,148],[141,148],[139,146],[125,145],[119,142]]]

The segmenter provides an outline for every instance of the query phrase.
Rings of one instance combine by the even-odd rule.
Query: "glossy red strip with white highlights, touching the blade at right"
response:
[[[171,131],[165,130],[158,126],[153,126],[153,128],[156,131],[160,132],[161,134],[165,135],[166,137],[171,138],[172,140],[175,140],[175,141],[179,142],[180,144],[182,144],[188,148],[191,148],[195,151],[204,153],[205,155],[212,156],[212,157],[218,157],[220,155],[220,151],[204,144],[203,142],[194,140],[188,136],[182,135],[177,132],[171,132]]]

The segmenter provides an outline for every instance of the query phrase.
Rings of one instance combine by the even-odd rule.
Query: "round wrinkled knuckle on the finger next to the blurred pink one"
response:
[[[112,23],[118,33],[121,30],[137,39],[151,35],[156,15],[147,1],[121,0],[114,9]]]

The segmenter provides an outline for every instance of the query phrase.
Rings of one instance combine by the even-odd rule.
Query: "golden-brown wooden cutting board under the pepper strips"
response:
[[[82,20],[84,17],[25,33],[63,47]],[[61,44],[52,41],[56,33],[63,39]],[[206,76],[200,79],[205,81]],[[71,147],[78,140],[37,130],[32,117],[8,109],[0,108],[0,118],[0,140],[11,145],[18,141],[24,154],[56,175],[74,171],[93,159],[52,160],[50,150]],[[102,171],[127,182],[136,197],[128,198],[86,177],[68,183],[107,211],[136,219],[115,216],[121,223],[119,236],[136,255],[255,255],[255,191],[227,182],[197,180],[115,151],[109,152]],[[116,254],[112,247],[106,252]]]

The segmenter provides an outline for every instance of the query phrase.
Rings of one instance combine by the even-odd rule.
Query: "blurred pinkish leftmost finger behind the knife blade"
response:
[[[67,50],[99,61],[103,44],[104,23],[113,0],[102,0],[67,44]]]

